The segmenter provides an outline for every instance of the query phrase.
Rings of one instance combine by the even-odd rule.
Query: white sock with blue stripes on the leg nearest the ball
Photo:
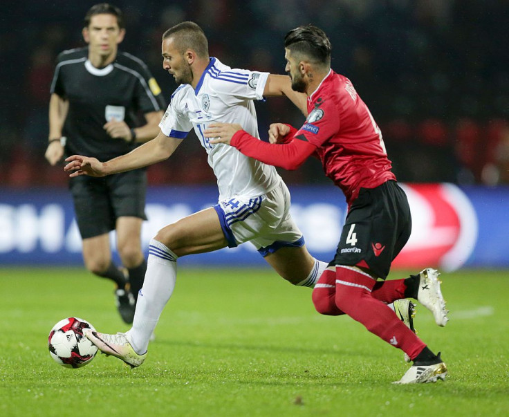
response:
[[[177,256],[163,243],[151,239],[145,281],[138,294],[133,326],[126,333],[131,346],[142,355],[169,297],[172,297],[177,274]]]

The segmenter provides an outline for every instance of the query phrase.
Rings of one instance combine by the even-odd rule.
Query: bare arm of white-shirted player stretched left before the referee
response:
[[[159,132],[154,140],[146,142],[129,152],[129,154],[118,156],[104,163],[96,158],[82,155],[69,156],[66,158],[68,164],[64,167],[64,170],[71,172],[69,174],[71,177],[80,175],[100,177],[131,171],[131,169],[147,167],[169,158],[181,142],[182,139],[169,138],[164,133]]]

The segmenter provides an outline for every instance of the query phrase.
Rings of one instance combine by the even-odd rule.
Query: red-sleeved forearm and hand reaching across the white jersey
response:
[[[267,143],[243,131],[239,124],[212,123],[204,134],[207,138],[213,138],[210,140],[212,144],[231,145],[246,156],[284,169],[297,169],[316,150],[304,135],[294,136],[284,145]]]

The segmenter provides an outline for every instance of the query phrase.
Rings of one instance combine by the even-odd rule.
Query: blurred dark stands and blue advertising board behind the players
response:
[[[55,57],[84,44],[82,18],[95,3],[36,0],[26,6],[19,1],[1,12],[3,265],[80,263],[66,174],[62,167],[46,163],[44,151]],[[300,24],[320,26],[333,44],[333,68],[348,76],[367,102],[398,180],[408,185],[414,231],[420,234],[413,236],[407,258],[421,266],[429,260],[450,269],[509,266],[503,236],[509,228],[508,1],[112,3],[127,19],[122,50],[147,62],[168,99],[176,85],[163,71],[160,37],[179,21],[200,24],[210,41],[210,55],[226,64],[272,73],[284,71],[283,37],[288,30]],[[302,116],[286,100],[260,102],[257,112],[262,137],[270,122],[302,124]],[[160,225],[216,200],[215,179],[198,141],[189,136],[177,154],[149,168],[151,221],[145,239]],[[312,252],[328,257],[340,225],[332,223],[331,228],[333,220],[323,219],[337,223],[344,216],[344,198],[328,183],[317,161],[308,161],[297,172],[279,172],[292,191],[299,226],[308,242],[315,240]],[[331,239],[323,238],[324,230]],[[436,243],[438,237],[441,243]],[[436,252],[433,256],[413,256],[430,246]],[[242,250],[230,251],[232,258],[244,262],[257,257],[248,248],[243,250],[245,256]],[[214,263],[222,258],[193,259]],[[219,263],[229,258],[224,259]]]

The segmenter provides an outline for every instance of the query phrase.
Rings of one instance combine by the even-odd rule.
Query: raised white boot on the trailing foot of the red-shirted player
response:
[[[438,279],[440,273],[433,268],[426,268],[419,272],[419,289],[417,300],[433,313],[438,326],[445,326],[449,321],[445,308],[445,301],[440,290],[441,281]]]

